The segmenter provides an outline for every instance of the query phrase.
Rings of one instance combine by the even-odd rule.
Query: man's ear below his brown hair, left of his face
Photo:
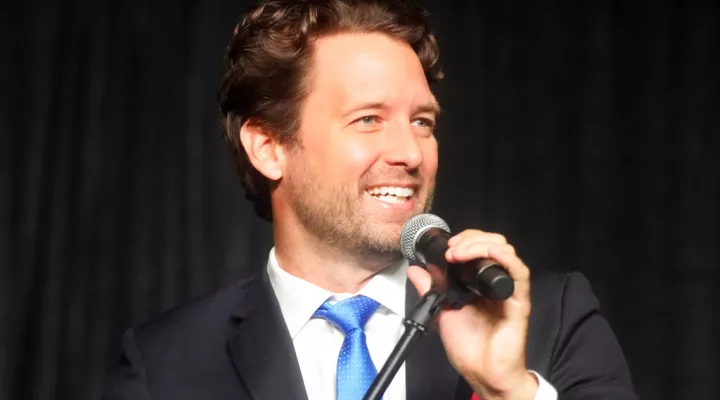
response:
[[[273,135],[248,120],[240,128],[240,142],[255,169],[270,180],[282,178],[285,157],[282,146]]]

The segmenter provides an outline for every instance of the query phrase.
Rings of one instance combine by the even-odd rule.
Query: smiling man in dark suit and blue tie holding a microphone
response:
[[[227,56],[226,135],[275,247],[258,276],[128,331],[107,397],[360,399],[431,284],[398,242],[433,197],[437,44],[405,1],[268,0]],[[498,234],[449,246],[515,292],[441,311],[385,399],[635,398],[584,278],[531,281]]]

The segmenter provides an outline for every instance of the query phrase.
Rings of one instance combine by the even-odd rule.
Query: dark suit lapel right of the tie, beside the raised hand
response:
[[[420,298],[409,280],[405,293],[405,313],[410,313]],[[457,398],[460,376],[450,365],[440,336],[434,330],[416,342],[405,363],[405,373],[407,399]],[[469,399],[470,395],[463,397],[463,400]]]

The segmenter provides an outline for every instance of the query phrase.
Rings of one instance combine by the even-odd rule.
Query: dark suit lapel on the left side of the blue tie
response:
[[[267,273],[254,279],[233,313],[228,341],[235,371],[254,400],[307,400],[300,367]]]

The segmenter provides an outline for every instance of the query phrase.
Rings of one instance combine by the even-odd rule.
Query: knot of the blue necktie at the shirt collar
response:
[[[357,295],[335,304],[323,303],[313,317],[324,318],[338,328],[344,335],[354,330],[365,329],[370,317],[380,307],[380,303],[363,295]]]

